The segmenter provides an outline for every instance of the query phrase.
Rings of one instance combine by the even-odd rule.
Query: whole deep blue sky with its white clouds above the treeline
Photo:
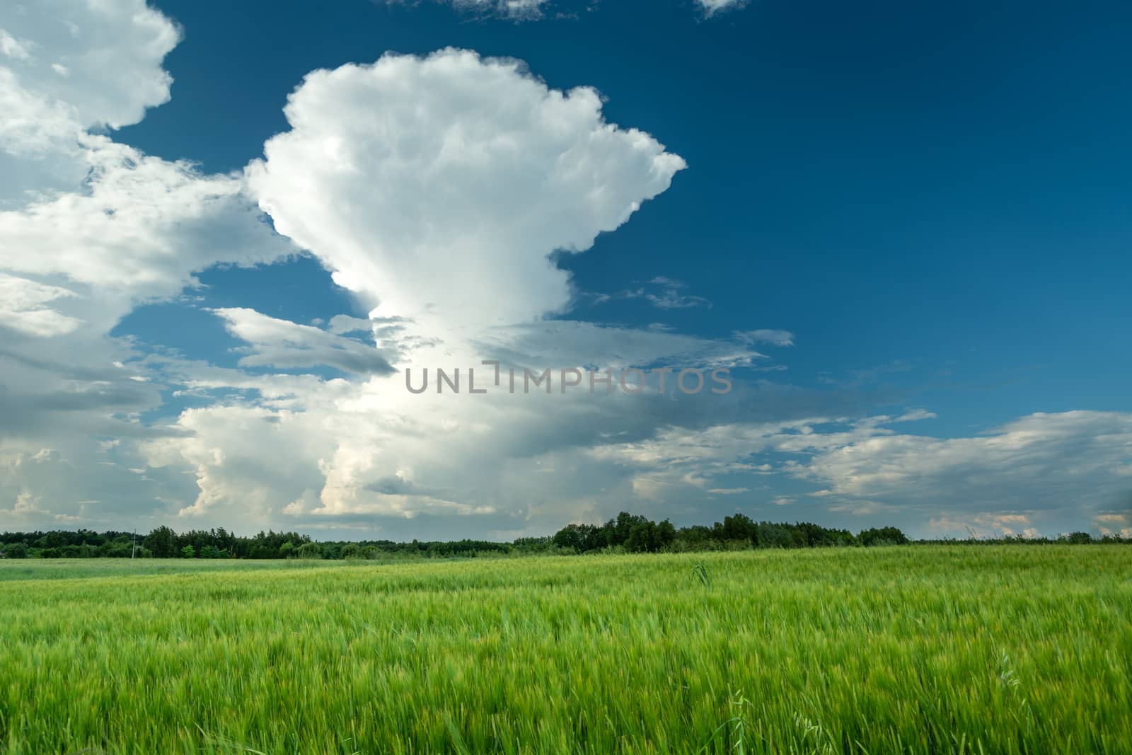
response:
[[[1132,10],[515,7],[0,10],[0,527],[1132,532]]]

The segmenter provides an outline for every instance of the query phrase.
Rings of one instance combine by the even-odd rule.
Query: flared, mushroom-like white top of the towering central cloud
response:
[[[595,91],[464,50],[314,71],[285,112],[248,169],[260,206],[377,315],[430,334],[561,310],[548,255],[589,249],[685,166],[607,123]]]

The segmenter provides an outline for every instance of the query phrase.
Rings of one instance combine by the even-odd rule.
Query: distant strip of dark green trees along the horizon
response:
[[[392,540],[323,541],[297,532],[260,532],[242,537],[217,530],[178,534],[160,526],[148,534],[52,530],[0,534],[0,558],[457,558],[508,555],[572,555],[586,552],[688,552],[752,548],[831,548],[902,546],[912,542],[893,526],[871,527],[854,534],[809,522],[755,522],[743,514],[727,516],[711,526],[679,527],[621,512],[604,524],[571,524],[554,535],[520,538],[512,542],[456,540],[451,542]],[[1058,538],[1000,538],[920,540],[961,543],[1090,543],[1124,542],[1074,532]]]

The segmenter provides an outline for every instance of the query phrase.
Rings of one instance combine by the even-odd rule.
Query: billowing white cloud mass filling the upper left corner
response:
[[[0,27],[14,58],[0,61],[0,169],[12,168],[0,170],[0,195],[14,189],[0,209],[9,326],[58,335],[85,323],[104,334],[197,271],[293,250],[242,196],[240,177],[88,131],[137,122],[169,98],[161,62],[180,36],[169,19],[143,0],[45,0],[5,5]],[[40,172],[44,164],[60,172]]]

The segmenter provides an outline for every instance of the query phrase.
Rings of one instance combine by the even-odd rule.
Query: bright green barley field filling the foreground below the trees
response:
[[[0,752],[1130,753],[1132,548],[0,561]]]

